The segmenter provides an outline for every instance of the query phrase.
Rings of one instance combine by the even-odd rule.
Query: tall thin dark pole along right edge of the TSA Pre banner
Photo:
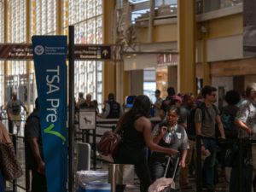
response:
[[[68,89],[69,89],[69,122],[68,122],[68,191],[73,192],[74,186],[74,26],[68,26]]]

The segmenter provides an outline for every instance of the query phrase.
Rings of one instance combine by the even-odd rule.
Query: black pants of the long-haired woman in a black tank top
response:
[[[137,177],[140,179],[140,189],[141,191],[148,192],[148,187],[151,184],[150,173],[148,169],[148,163],[145,158],[143,148],[138,149],[128,149],[123,146],[119,148],[119,152],[114,160],[116,164],[130,164],[134,165]],[[125,190],[125,185],[116,185],[117,192],[123,192]]]

